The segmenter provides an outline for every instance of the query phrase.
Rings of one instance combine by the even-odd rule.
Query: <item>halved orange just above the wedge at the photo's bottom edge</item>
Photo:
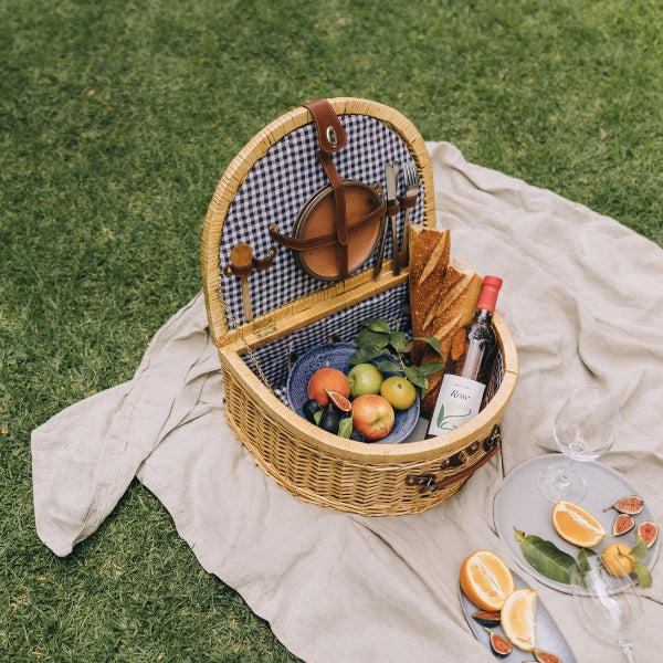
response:
[[[478,608],[498,611],[514,591],[514,578],[497,555],[476,550],[461,566],[461,589]]]

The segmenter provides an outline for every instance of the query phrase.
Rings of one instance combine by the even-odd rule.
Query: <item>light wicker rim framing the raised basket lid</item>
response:
[[[420,172],[423,194],[423,223],[435,224],[435,193],[433,185],[433,168],[423,137],[400,112],[369,99],[358,97],[334,97],[327,99],[337,115],[367,115],[382,122],[403,141]],[[366,284],[370,272],[361,270],[344,281],[334,283],[312,292],[269,313],[256,316],[253,320],[229,328],[225,307],[222,301],[219,280],[219,249],[223,224],[230,206],[240,187],[246,179],[253,165],[265,156],[267,150],[287,134],[314,122],[313,114],[305,106],[298,106],[261,129],[232,159],[219,181],[209,204],[202,232],[201,267],[210,334],[212,341],[219,348],[236,340],[238,337],[251,335],[254,332],[269,328],[275,322],[287,318],[297,311],[305,311],[320,298],[332,298],[347,294],[349,291]],[[391,260],[386,261],[385,270],[390,270]],[[407,270],[404,271],[407,273]],[[383,277],[383,276],[382,276]],[[380,277],[380,280],[382,278]],[[375,283],[375,282],[373,282]]]

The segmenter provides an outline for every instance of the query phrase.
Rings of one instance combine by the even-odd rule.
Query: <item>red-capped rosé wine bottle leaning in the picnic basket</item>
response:
[[[501,287],[498,276],[484,277],[472,323],[452,338],[427,438],[459,428],[481,410],[497,348],[492,323]]]

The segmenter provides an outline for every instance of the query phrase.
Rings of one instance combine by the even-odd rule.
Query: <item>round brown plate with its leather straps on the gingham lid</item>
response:
[[[293,235],[270,225],[272,239],[295,251],[299,266],[314,278],[343,280],[358,270],[378,240],[386,202],[379,185],[369,187],[341,179],[332,158],[347,144],[347,135],[327,99],[305,104],[315,119],[319,148],[316,157],[329,185],[304,204],[293,225]]]

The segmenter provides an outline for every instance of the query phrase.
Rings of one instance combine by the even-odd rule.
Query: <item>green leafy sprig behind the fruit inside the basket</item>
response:
[[[392,329],[389,323],[381,318],[366,318],[359,323],[359,332],[355,336],[357,351],[350,357],[350,364],[367,364],[379,359],[377,364],[380,372],[402,372],[419,390],[423,398],[428,391],[428,376],[444,368],[444,364],[431,361],[423,366],[410,364],[407,355],[411,348],[411,340],[423,340],[442,357],[440,340],[432,336],[417,336],[412,339],[400,332],[398,323]]]

